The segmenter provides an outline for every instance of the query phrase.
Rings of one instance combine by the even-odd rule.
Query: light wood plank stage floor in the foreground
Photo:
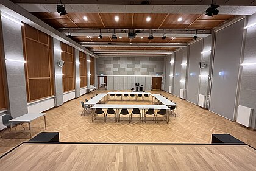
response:
[[[23,144],[1,170],[256,170],[247,145]]]

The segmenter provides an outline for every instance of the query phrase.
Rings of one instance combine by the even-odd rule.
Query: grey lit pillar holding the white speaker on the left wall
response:
[[[53,46],[55,49],[61,49],[60,48],[60,41],[53,38]],[[54,49],[52,48],[52,49]],[[55,106],[63,105],[63,86],[62,86],[62,75],[58,75],[62,73],[62,68],[57,65],[58,61],[62,59],[62,54],[60,51],[54,51],[54,91],[55,91]]]

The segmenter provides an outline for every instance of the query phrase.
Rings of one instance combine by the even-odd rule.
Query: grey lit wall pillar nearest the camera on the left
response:
[[[1,21],[1,19],[0,19]],[[21,25],[2,17],[2,40],[4,57],[24,60]],[[1,26],[0,25],[0,26]],[[5,61],[7,75],[8,113],[12,117],[27,113],[27,90],[24,63]]]

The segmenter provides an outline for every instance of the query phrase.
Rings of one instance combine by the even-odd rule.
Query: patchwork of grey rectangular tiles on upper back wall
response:
[[[163,58],[100,57],[97,64],[98,75],[163,75]]]

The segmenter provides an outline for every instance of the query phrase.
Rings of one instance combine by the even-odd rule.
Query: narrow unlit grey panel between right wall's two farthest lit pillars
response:
[[[182,58],[183,58],[183,49],[180,49],[179,51],[175,52],[175,71],[174,71],[174,92],[173,94],[175,96],[180,96],[180,79],[182,75]]]

